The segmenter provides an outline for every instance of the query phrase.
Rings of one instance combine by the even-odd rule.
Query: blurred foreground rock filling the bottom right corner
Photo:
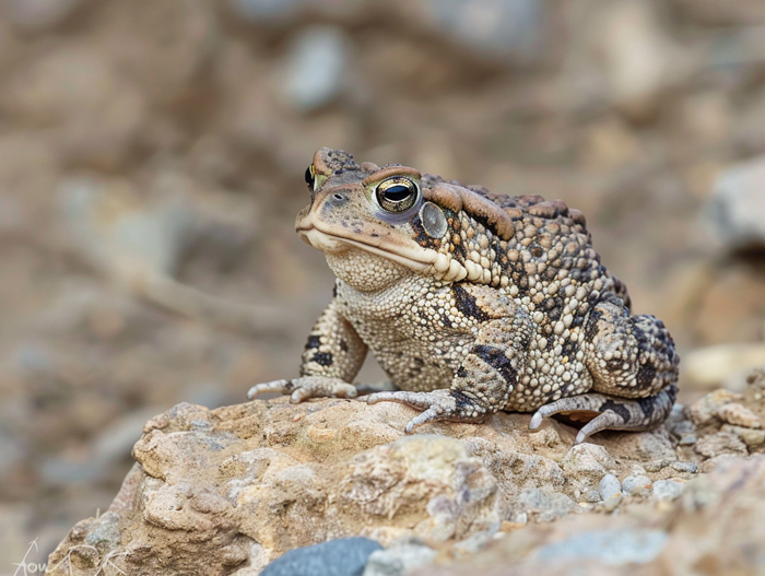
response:
[[[587,514],[508,532],[472,559],[417,576],[756,574],[765,541],[765,457],[721,461],[681,497],[639,514]],[[511,567],[510,567],[511,566]]]

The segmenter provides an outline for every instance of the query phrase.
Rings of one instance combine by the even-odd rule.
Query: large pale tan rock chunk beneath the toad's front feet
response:
[[[120,518],[131,536],[94,562],[126,552],[110,562],[187,574],[204,557],[219,566],[208,574],[222,574],[328,538],[438,541],[498,524],[502,495],[482,461],[455,438],[403,437],[407,418],[401,407],[341,400],[180,404],[145,425],[140,467],[116,499],[130,503]],[[99,527],[85,521],[60,550]],[[208,543],[191,550],[189,538]]]

